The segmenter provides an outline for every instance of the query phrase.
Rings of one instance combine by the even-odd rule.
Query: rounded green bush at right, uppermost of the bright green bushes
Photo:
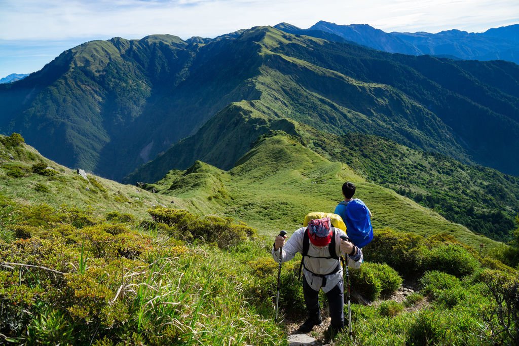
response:
[[[428,270],[443,271],[458,278],[473,274],[480,268],[474,256],[465,248],[455,244],[442,244],[432,248],[425,262]]]

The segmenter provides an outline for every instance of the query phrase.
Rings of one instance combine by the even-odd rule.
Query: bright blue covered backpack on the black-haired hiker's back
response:
[[[342,201],[339,204],[346,206],[346,233],[353,244],[364,247],[373,240],[373,227],[371,226],[370,211],[360,199],[352,199],[349,202]]]

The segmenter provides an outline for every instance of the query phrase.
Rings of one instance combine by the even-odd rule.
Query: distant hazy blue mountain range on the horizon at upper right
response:
[[[386,33],[367,24],[337,25],[324,21],[309,29],[287,23],[275,27],[292,34],[352,41],[390,53],[429,54],[463,60],[507,60],[519,64],[519,24],[489,29],[484,33],[448,30],[437,34]]]

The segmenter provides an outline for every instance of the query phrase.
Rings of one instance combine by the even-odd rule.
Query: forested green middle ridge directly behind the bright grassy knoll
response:
[[[125,182],[156,182],[170,169],[185,170],[195,160],[231,170],[257,143],[251,139],[290,133],[305,147],[332,161],[347,163],[369,181],[434,208],[447,219],[487,237],[509,239],[510,231],[515,228],[514,217],[519,210],[517,177],[462,164],[374,135],[339,136],[293,120],[269,119],[257,110],[264,111],[262,105],[258,101],[229,106],[204,124],[197,134],[148,162],[125,178]]]

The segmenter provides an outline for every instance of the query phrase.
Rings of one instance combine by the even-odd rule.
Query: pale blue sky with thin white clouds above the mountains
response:
[[[215,37],[320,20],[386,32],[484,32],[519,23],[519,0],[0,0],[0,78],[38,71],[94,39]]]

